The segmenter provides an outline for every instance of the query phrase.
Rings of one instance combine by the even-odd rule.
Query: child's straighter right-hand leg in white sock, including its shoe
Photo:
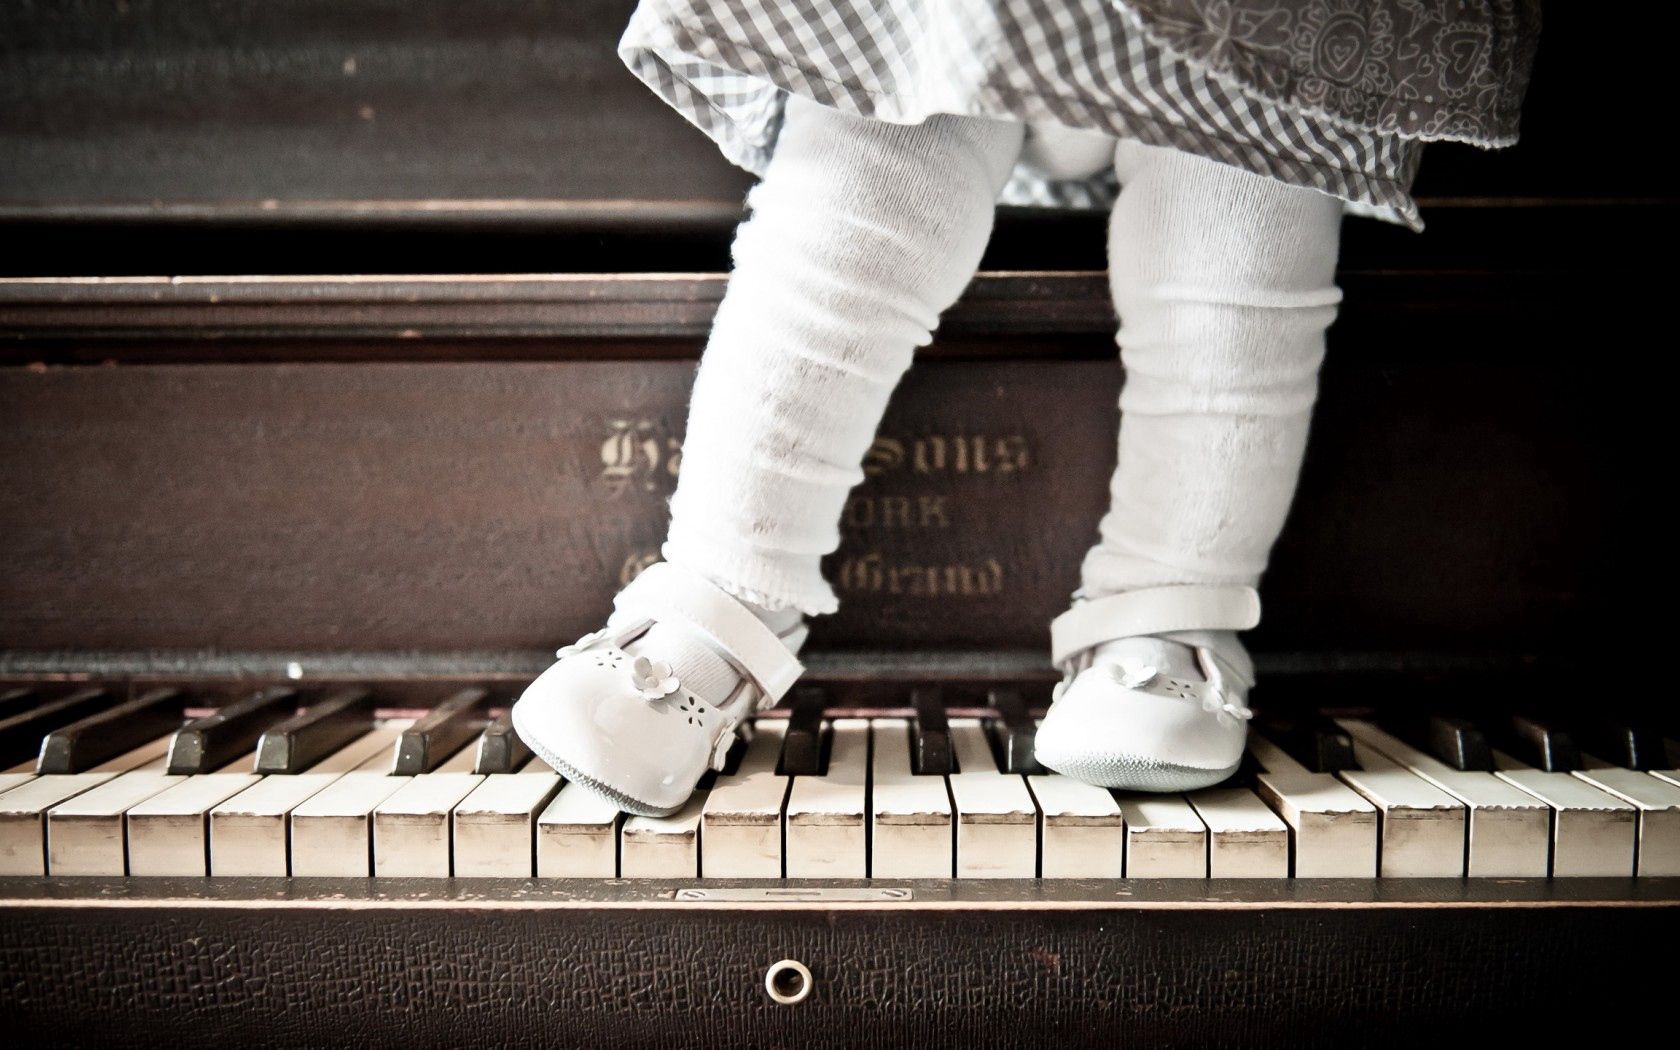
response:
[[[1341,301],[1341,202],[1136,141],[1116,173],[1119,464],[1084,612],[1052,628],[1080,655],[1038,748],[1095,783],[1188,790],[1242,758],[1253,665],[1231,628],[1258,617],[1248,588],[1295,492]]]

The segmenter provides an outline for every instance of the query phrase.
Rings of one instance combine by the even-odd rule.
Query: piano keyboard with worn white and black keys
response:
[[[365,690],[301,712],[264,690],[186,726],[166,690],[69,699],[0,721],[0,756],[15,756],[42,711],[74,717],[0,771],[0,875],[1680,875],[1680,769],[1576,754],[1544,726],[1262,721],[1231,781],[1134,795],[1038,768],[1005,690],[984,717],[948,719],[936,696],[912,717],[801,702],[759,719],[687,806],[648,818],[568,785],[480,690],[420,719],[376,719]]]

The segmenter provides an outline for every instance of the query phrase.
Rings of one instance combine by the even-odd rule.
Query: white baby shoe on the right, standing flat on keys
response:
[[[1062,680],[1035,738],[1038,761],[1134,791],[1216,785],[1243,758],[1253,660],[1231,632],[1260,622],[1248,586],[1075,591],[1050,623]]]

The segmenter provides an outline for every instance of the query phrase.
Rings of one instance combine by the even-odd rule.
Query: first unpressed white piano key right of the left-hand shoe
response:
[[[776,774],[786,726],[759,722],[732,776],[719,776],[701,811],[701,875],[781,879],[781,806],[786,776]]]

